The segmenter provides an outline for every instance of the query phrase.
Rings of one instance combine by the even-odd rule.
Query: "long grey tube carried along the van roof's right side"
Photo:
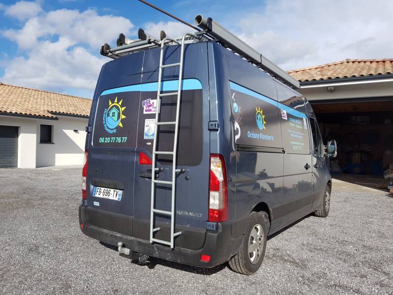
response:
[[[216,38],[225,47],[231,49],[233,52],[250,60],[255,65],[261,67],[272,76],[278,78],[283,83],[297,88],[300,88],[300,82],[290,76],[287,72],[282,70],[279,66],[266,59],[262,54],[253,49],[249,44],[240,40],[237,36],[224,29],[219,23],[213,21],[212,18],[205,18],[198,14],[195,17],[194,23],[201,29],[205,30],[209,35]]]

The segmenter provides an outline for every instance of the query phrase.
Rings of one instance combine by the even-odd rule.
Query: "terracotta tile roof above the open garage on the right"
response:
[[[393,59],[345,59],[288,71],[300,82],[393,74]]]

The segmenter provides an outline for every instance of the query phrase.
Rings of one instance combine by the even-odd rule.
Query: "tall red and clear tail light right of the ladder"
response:
[[[210,155],[209,179],[209,221],[220,222],[228,219],[228,193],[224,157]]]

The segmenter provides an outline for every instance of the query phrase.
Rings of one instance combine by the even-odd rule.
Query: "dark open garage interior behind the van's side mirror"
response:
[[[336,139],[335,177],[372,188],[393,164],[393,98],[311,101],[324,141]],[[353,177],[353,176],[358,177]]]

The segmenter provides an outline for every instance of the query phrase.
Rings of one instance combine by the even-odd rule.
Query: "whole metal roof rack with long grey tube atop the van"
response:
[[[195,40],[195,37],[193,37],[188,40],[188,43],[195,41],[219,42],[224,47],[230,49],[233,53],[236,53],[240,57],[253,63],[255,66],[261,68],[287,86],[295,89],[300,88],[299,81],[290,76],[287,72],[282,70],[269,59],[266,59],[261,53],[253,49],[249,44],[232,34],[230,31],[224,29],[219,23],[213,21],[212,18],[205,18],[198,14],[194,19],[194,23],[202,30],[195,33],[199,40]],[[138,39],[131,40],[126,38],[124,34],[120,34],[116,42],[116,47],[111,48],[107,43],[105,43],[101,47],[100,53],[103,56],[107,56],[112,59],[118,59],[133,52],[160,47],[161,41],[165,39],[165,37],[166,33],[164,31],[161,31],[160,39],[158,39],[146,33],[143,29],[139,29]],[[170,41],[171,39],[179,40],[181,37],[167,39],[168,45],[177,44],[176,42]]]

